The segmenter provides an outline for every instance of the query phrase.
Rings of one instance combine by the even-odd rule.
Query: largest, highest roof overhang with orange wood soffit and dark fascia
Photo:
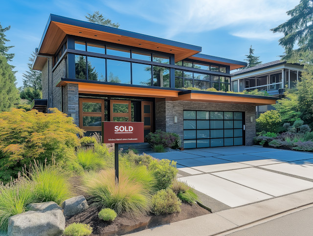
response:
[[[201,52],[202,49],[199,46],[50,14],[38,47],[38,54],[54,55],[67,34],[170,53],[175,55],[176,61]],[[39,61],[41,61],[41,59],[39,59]],[[40,68],[40,66],[37,65],[37,58],[34,63],[34,68]]]

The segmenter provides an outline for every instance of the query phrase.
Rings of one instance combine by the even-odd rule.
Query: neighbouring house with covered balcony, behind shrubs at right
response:
[[[232,73],[232,89],[234,92],[244,90],[267,91],[271,96],[281,98],[285,88],[294,88],[301,77],[303,66],[300,64],[289,64],[282,61],[264,63],[255,67],[238,70]],[[268,110],[274,110],[272,105],[256,107],[259,116]]]

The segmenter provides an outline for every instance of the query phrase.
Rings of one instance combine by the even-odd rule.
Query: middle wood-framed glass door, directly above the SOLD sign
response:
[[[110,121],[132,121],[131,101],[110,100]]]

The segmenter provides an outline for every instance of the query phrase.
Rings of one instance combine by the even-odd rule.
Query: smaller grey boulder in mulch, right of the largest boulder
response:
[[[65,216],[72,216],[84,212],[88,207],[86,198],[83,195],[67,199],[62,204]]]

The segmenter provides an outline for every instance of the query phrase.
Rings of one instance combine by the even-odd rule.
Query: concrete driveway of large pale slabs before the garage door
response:
[[[311,153],[232,146],[151,155],[176,161],[179,180],[206,196],[215,212],[313,188]]]

